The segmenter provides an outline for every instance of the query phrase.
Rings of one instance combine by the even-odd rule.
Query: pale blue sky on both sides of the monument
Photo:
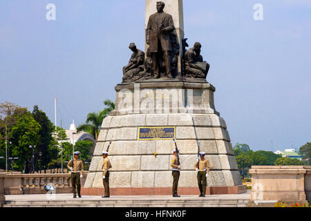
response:
[[[46,20],[55,3],[57,20]],[[253,6],[263,4],[264,21]],[[232,143],[254,150],[311,141],[311,1],[184,0],[185,35],[202,43],[216,110]],[[134,41],[144,50],[144,0],[0,1],[0,102],[39,105],[59,121],[115,100]]]

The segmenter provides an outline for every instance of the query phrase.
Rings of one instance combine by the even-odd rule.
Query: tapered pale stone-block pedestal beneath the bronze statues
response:
[[[102,123],[84,193],[100,194],[95,189],[103,188],[102,151],[106,151],[112,140],[111,194],[171,195],[173,140],[139,140],[140,127],[175,127],[182,165],[179,182],[182,193],[198,194],[194,169],[198,140],[200,151],[206,152],[210,162],[207,177],[210,192],[246,191],[241,186],[227,125],[214,107],[215,88],[211,84],[149,82],[119,85],[115,90],[115,111]]]

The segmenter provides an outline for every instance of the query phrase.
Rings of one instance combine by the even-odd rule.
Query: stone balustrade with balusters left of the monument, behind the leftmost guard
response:
[[[84,172],[81,186],[84,186],[88,172]],[[4,177],[4,193],[6,195],[18,194],[44,194],[46,184],[53,184],[56,193],[71,193],[70,173],[41,173],[41,174],[6,174]]]

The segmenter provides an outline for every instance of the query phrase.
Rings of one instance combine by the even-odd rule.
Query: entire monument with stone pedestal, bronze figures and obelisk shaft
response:
[[[142,61],[143,53],[131,44],[133,55],[129,65],[124,68],[124,72],[129,71],[127,82],[115,86],[115,110],[102,123],[82,189],[84,195],[103,195],[102,151],[106,151],[111,141],[111,195],[171,195],[173,177],[170,161],[175,148],[173,137],[180,149],[182,166],[178,193],[200,193],[194,169],[199,141],[200,151],[206,153],[210,163],[207,194],[246,191],[241,182],[227,125],[214,105],[216,89],[205,80],[208,69],[204,67],[208,64],[203,62],[200,55],[201,45],[196,43],[187,50],[185,59],[182,56],[182,0],[164,0],[164,3],[165,13],[156,0],[146,1],[146,28],[152,17],[149,28],[153,37],[156,36],[156,44],[162,44],[160,52],[163,54],[168,39],[173,42],[173,34],[177,35],[180,44],[178,75],[174,78],[150,78],[152,75],[148,75],[149,78],[138,80],[144,76],[143,65],[138,64],[138,61]],[[160,15],[153,16],[157,10]],[[154,46],[153,43],[146,44],[146,50]],[[182,64],[185,64],[185,70]],[[186,77],[180,77],[182,75]]]

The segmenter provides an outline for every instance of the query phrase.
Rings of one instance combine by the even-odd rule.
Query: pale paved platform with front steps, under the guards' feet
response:
[[[183,195],[171,196],[82,196],[73,199],[72,194],[55,195],[6,195],[5,207],[245,207],[250,200],[250,192],[238,195]]]

